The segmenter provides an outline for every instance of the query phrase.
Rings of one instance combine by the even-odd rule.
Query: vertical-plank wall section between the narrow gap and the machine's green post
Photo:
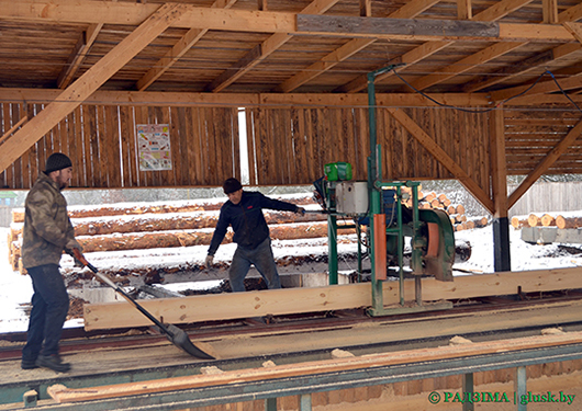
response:
[[[251,184],[311,184],[324,164],[351,163],[366,180],[368,114],[362,109],[249,109],[247,139]]]

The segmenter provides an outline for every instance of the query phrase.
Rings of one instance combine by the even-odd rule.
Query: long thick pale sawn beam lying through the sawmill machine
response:
[[[423,300],[513,295],[517,294],[518,287],[522,287],[523,293],[577,289],[582,288],[581,274],[582,267],[574,267],[458,276],[452,283],[423,278]],[[406,300],[414,298],[414,281],[405,281],[404,295]],[[387,306],[399,304],[398,282],[383,283],[383,301]],[[370,307],[371,289],[369,283],[361,283],[153,299],[141,304],[158,319],[187,323]],[[88,331],[149,323],[147,318],[126,302],[85,306],[85,328]]]

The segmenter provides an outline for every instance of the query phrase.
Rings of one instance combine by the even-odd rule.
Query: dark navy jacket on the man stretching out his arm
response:
[[[262,208],[295,213],[298,210],[298,206],[294,204],[269,198],[259,192],[243,191],[240,203],[235,205],[227,201],[221,207],[221,215],[219,222],[216,222],[216,230],[212,236],[209,255],[214,255],[228,226],[233,226],[233,241],[239,247],[253,250],[265,241],[269,237],[269,227],[265,221]]]

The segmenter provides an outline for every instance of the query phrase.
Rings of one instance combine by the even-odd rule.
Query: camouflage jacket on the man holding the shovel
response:
[[[75,231],[67,215],[67,201],[57,183],[42,172],[29,192],[24,207],[24,267],[58,264],[67,242],[75,240]]]

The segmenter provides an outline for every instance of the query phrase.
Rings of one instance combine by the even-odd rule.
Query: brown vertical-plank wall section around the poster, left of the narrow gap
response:
[[[0,105],[0,135],[43,105]],[[172,170],[139,171],[136,124],[169,124]],[[30,189],[47,157],[71,158],[71,187],[222,185],[239,178],[237,109],[81,105],[4,172],[0,187]]]

